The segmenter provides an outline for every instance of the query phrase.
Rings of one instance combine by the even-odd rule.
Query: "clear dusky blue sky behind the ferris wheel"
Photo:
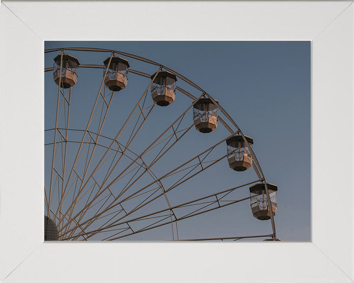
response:
[[[173,69],[203,88],[219,101],[242,132],[254,139],[253,148],[267,182],[278,186],[278,210],[274,218],[278,238],[289,241],[310,240],[309,41],[45,42],[45,49],[59,47],[104,48],[146,57]],[[53,66],[53,58],[58,54],[53,52],[45,55],[46,68]],[[66,54],[78,57],[81,64],[102,64],[110,56],[109,53],[101,52],[66,51]],[[127,59],[131,69],[149,74],[157,71],[157,66]],[[70,127],[85,129],[102,81],[102,72],[102,69],[79,69],[78,83],[72,88]],[[114,93],[102,133],[115,137],[118,125],[129,115],[148,84],[149,80],[129,74],[127,87]],[[181,80],[177,80],[177,85],[194,96],[200,95],[199,91]],[[55,125],[57,94],[58,86],[53,81],[52,72],[46,72],[46,129]],[[151,100],[149,92],[147,99]],[[132,150],[139,152],[145,148],[191,102],[190,98],[177,91],[173,104],[168,107],[156,106],[151,113],[151,120],[142,128],[141,136],[137,136],[137,140],[132,143]],[[192,122],[191,112],[187,114],[189,122]],[[191,129],[171,153],[154,165],[153,171],[157,176],[163,174],[228,135],[221,123],[210,134]],[[53,135],[46,134],[46,142],[49,141],[53,141]],[[52,149],[45,151],[46,186]],[[226,154],[226,143],[222,143],[217,150],[216,153]],[[233,171],[224,159],[171,191],[169,198],[178,204],[255,179],[257,176],[253,169]],[[141,181],[137,186],[148,182],[147,179]],[[248,187],[240,189],[235,195],[239,198],[247,196]],[[269,234],[271,226],[270,221],[254,218],[249,200],[245,200],[182,220],[178,222],[178,233],[180,239],[233,237]],[[171,225],[142,232],[131,239],[164,240],[169,237]]]

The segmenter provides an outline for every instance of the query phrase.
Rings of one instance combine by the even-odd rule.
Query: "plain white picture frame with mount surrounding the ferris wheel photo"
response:
[[[2,1],[0,39],[0,282],[354,281],[353,1]],[[78,39],[311,40],[312,241],[43,242],[44,41]]]

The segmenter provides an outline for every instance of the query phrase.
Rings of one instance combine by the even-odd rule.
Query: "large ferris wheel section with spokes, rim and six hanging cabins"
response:
[[[266,182],[253,139],[217,97],[144,57],[97,48],[45,53],[54,61],[45,69],[52,100],[45,240],[134,240],[161,227],[170,240],[277,240],[277,186]],[[90,54],[102,55],[101,63],[80,63]],[[215,186],[218,166],[249,179]],[[181,237],[184,221],[245,201],[255,218],[270,220],[266,233]]]

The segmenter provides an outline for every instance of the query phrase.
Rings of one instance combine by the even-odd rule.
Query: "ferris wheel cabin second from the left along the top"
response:
[[[106,74],[104,79],[105,85],[109,90],[119,91],[123,89],[128,83],[128,68],[129,62],[120,57],[112,57],[111,63],[108,66],[110,57],[103,61],[105,64],[103,69],[103,75]]]

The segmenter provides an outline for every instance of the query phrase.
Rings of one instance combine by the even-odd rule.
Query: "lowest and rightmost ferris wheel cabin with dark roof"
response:
[[[273,216],[276,214],[276,192],[278,191],[278,187],[276,185],[266,183]],[[268,210],[268,200],[266,197],[266,187],[265,184],[259,183],[251,186],[250,190],[250,197],[251,197],[251,209],[253,216],[259,220],[269,220],[270,213]]]

